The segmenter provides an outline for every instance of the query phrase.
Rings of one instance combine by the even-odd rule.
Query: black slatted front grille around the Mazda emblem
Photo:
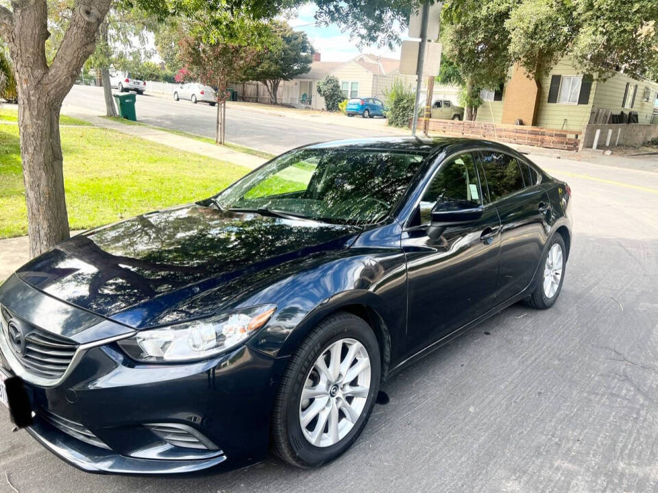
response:
[[[61,378],[66,373],[77,350],[75,342],[19,320],[7,309],[1,310],[1,316],[3,335],[8,341],[8,346],[27,372],[53,380]],[[8,335],[10,321],[20,326],[21,333],[25,337],[25,351],[22,354],[10,344]]]

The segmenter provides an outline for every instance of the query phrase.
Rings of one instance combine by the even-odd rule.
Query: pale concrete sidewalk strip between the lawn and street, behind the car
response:
[[[256,169],[266,161],[258,156],[234,151],[233,149],[221,145],[197,141],[197,139],[172,134],[171,132],[165,132],[164,130],[157,130],[156,128],[151,128],[147,125],[130,125],[121,123],[120,121],[90,115],[88,112],[67,111],[66,115],[88,121],[96,127],[116,130],[122,134],[140,137],[141,139],[167,145],[168,147],[180,149],[185,152],[201,154],[208,158],[228,161],[228,163],[244,166],[249,169]]]

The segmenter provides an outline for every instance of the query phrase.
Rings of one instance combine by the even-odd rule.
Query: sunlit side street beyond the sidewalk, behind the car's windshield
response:
[[[102,89],[73,86],[64,100],[63,111],[67,110],[104,115]],[[173,98],[147,93],[136,95],[135,111],[137,119],[143,123],[215,138],[217,108],[208,104],[174,101]],[[315,115],[317,120],[310,115]],[[326,118],[317,112],[309,112],[306,119],[294,119],[271,112],[256,112],[230,103],[226,108],[226,119],[226,141],[274,154],[315,142],[399,133],[385,128],[385,119],[358,119],[361,125],[355,126],[354,122],[348,121],[348,117]],[[343,119],[345,123],[341,122]],[[327,123],[328,120],[331,123]]]

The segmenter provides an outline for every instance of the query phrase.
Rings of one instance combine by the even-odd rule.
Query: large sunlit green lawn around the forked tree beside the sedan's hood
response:
[[[62,126],[73,230],[209,197],[249,169],[93,126]],[[0,124],[0,238],[27,234],[19,129]]]

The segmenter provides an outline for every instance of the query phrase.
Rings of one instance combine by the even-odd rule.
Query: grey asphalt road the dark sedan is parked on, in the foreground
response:
[[[0,491],[656,492],[658,173],[531,157],[574,196],[559,300],[512,306],[393,378],[337,461],[98,476],[0,416]]]

